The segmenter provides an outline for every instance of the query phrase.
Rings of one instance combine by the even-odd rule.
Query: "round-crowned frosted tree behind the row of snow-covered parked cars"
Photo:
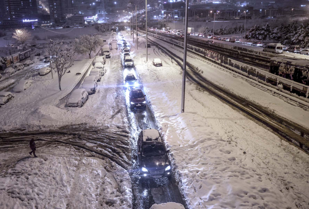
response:
[[[74,41],[73,48],[78,54],[88,53],[89,59],[91,59],[91,52],[95,50],[95,47],[102,46],[103,44],[103,40],[98,36],[83,35]]]

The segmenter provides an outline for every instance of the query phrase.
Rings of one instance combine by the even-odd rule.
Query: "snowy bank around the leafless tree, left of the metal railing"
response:
[[[99,50],[92,53],[92,56]],[[34,74],[29,79],[32,85],[20,93],[15,93],[9,103],[1,107],[0,112],[0,130],[9,130],[16,127],[25,127],[28,125],[49,125],[54,120],[60,120],[59,123],[67,123],[63,121],[63,110],[57,106],[59,99],[65,96],[79,81],[80,76],[76,76],[77,72],[83,74],[91,64],[92,59],[87,59],[86,55],[77,55],[77,61],[74,66],[70,67],[70,73],[66,73],[61,80],[61,89],[59,91],[57,74],[54,72],[54,79],[51,79],[51,73],[46,76]],[[57,118],[59,116],[60,118]],[[47,122],[47,124],[45,124]]]

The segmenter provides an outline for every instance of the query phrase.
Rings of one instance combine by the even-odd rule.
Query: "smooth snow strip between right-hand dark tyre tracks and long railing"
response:
[[[159,41],[158,39],[148,37],[150,40],[155,41],[163,47],[172,46],[167,42]],[[171,48],[169,48],[171,49]],[[183,57],[183,53],[173,50],[173,53]],[[188,54],[191,54],[188,52]],[[269,111],[286,118],[296,124],[309,128],[309,112],[303,110],[301,107],[296,107],[292,103],[284,101],[281,98],[274,97],[272,94],[256,88],[254,85],[240,79],[238,76],[234,77],[231,73],[226,72],[222,67],[210,62],[203,62],[199,59],[194,59],[187,56],[187,61],[194,66],[198,67],[203,73],[201,76],[205,77],[210,82],[233,92],[243,98],[255,102],[262,107],[268,108]]]

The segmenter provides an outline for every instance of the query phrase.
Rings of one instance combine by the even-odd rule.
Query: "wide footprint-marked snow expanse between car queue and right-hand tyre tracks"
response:
[[[146,66],[145,49],[133,46],[134,64],[190,208],[308,207],[307,154],[190,82],[180,114],[181,69],[163,51],[148,50]],[[163,67],[152,66],[158,57]]]

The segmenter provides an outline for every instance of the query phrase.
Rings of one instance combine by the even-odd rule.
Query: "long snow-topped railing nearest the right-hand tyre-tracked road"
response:
[[[181,41],[177,41],[175,39],[172,38],[168,38],[165,36],[160,36],[160,35],[156,35],[156,34],[149,34],[150,36],[153,37],[157,37],[159,39],[165,40],[167,42],[170,42],[172,44],[175,44],[177,46],[183,47],[184,43]],[[228,46],[228,45],[227,45]],[[246,76],[248,78],[251,78],[257,82],[260,83],[266,83],[268,81],[274,81],[277,85],[268,85],[274,89],[278,89],[277,86],[279,84],[282,84],[284,86],[286,86],[287,88],[289,88],[290,92],[292,92],[294,90],[294,92],[298,92],[299,95],[303,95],[305,98],[309,97],[309,86],[308,85],[304,85],[280,76],[277,76],[275,74],[269,73],[265,70],[261,70],[259,68],[241,63],[239,61],[230,59],[230,58],[226,58],[225,56],[214,52],[212,50],[206,50],[197,46],[193,46],[188,44],[188,50],[193,52],[194,54],[197,54],[203,58],[207,58],[209,60],[211,60],[212,62],[218,63],[221,66],[224,66],[226,68],[228,68],[229,70],[233,71],[233,72],[237,72],[243,76]],[[291,94],[291,96],[294,96]]]

